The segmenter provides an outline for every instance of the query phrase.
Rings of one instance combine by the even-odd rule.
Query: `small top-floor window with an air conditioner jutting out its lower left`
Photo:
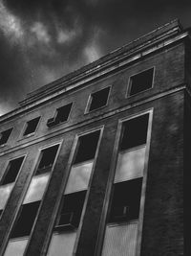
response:
[[[57,108],[55,116],[48,120],[47,126],[51,128],[59,123],[67,121],[71,112],[72,105],[73,103]]]

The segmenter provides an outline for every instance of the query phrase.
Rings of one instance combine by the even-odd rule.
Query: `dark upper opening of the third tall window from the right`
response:
[[[53,166],[56,152],[59,145],[47,148],[41,151],[40,162],[36,171],[36,175],[41,175],[50,171]]]

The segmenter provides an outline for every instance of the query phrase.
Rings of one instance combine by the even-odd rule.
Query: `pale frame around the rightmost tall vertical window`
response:
[[[140,255],[140,245],[142,239],[142,226],[143,226],[143,214],[144,214],[144,202],[145,202],[145,192],[146,192],[146,180],[147,180],[147,170],[148,170],[148,159],[149,159],[149,150],[150,150],[150,141],[151,141],[151,132],[152,132],[152,121],[153,121],[153,112],[154,108],[151,107],[149,109],[145,109],[139,111],[138,113],[130,114],[128,117],[122,117],[118,119],[117,125],[117,133],[116,133],[116,141],[115,146],[113,149],[113,158],[111,162],[111,170],[110,175],[108,177],[107,189],[106,194],[103,202],[102,213],[100,217],[100,224],[99,224],[99,236],[96,243],[96,256],[101,255],[103,242],[105,237],[105,230],[106,225],[108,223],[108,218],[111,209],[112,197],[114,193],[114,180],[117,168],[117,156],[119,152],[119,145],[121,140],[121,131],[122,131],[122,124],[130,119],[137,118],[140,115],[149,114],[148,118],[148,128],[147,128],[147,140],[146,140],[146,152],[145,152],[145,163],[144,163],[144,170],[142,175],[142,187],[141,187],[141,194],[140,194],[140,203],[139,203],[139,216],[138,216],[138,239],[137,239],[137,249],[136,249],[136,256]],[[109,223],[112,225],[117,225],[117,223]]]

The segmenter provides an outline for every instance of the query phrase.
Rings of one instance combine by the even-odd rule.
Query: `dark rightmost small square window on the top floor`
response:
[[[152,87],[154,68],[147,69],[130,78],[129,95],[145,91]]]

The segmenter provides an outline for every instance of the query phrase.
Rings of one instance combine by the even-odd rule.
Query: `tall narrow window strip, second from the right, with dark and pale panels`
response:
[[[48,256],[62,256],[63,251],[66,255],[73,255],[76,232],[84,207],[99,135],[100,130],[96,130],[78,138],[73,165],[55,221]]]

